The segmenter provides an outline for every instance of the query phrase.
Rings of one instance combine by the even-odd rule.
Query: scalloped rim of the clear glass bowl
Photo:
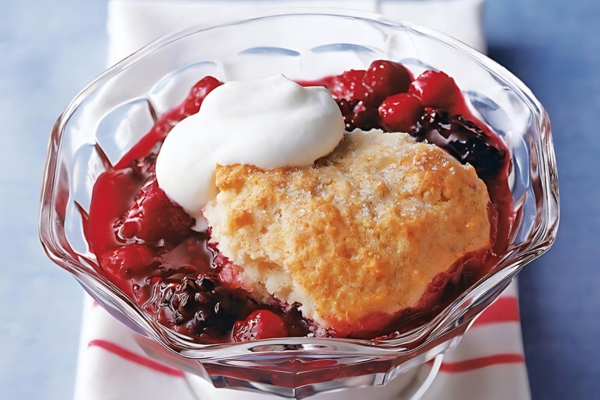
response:
[[[147,55],[151,54],[155,50],[162,46],[168,45],[169,43],[186,36],[199,33],[202,31],[224,28],[227,26],[233,26],[240,23],[246,23],[250,21],[256,21],[268,18],[277,18],[285,16],[326,16],[326,17],[342,17],[357,20],[368,20],[369,22],[377,22],[383,25],[391,27],[400,27],[412,31],[413,33],[428,36],[436,41],[442,42],[447,46],[452,47],[456,51],[460,51],[463,54],[469,56],[474,60],[480,67],[486,69],[494,76],[501,79],[503,84],[509,86],[515,93],[519,95],[522,101],[534,111],[536,118],[536,124],[541,132],[541,145],[542,149],[540,152],[539,165],[550,166],[550,171],[547,171],[545,180],[542,185],[546,189],[545,196],[546,201],[554,203],[556,209],[556,216],[550,214],[550,211],[543,217],[543,225],[537,226],[534,237],[519,246],[511,246],[502,258],[498,266],[484,278],[478,281],[476,284],[467,289],[461,294],[452,304],[446,307],[430,322],[404,334],[401,334],[395,338],[382,339],[382,340],[361,340],[361,339],[341,339],[341,338],[279,338],[279,339],[267,339],[259,340],[256,342],[246,343],[219,343],[219,344],[201,344],[197,343],[190,338],[178,334],[177,332],[171,331],[166,327],[163,327],[159,323],[155,322],[150,316],[142,310],[142,308],[125,295],[120,289],[118,289],[112,282],[98,274],[93,269],[87,269],[82,262],[77,261],[75,257],[68,254],[68,252],[56,242],[56,232],[53,223],[53,216],[55,211],[52,207],[49,207],[53,202],[53,189],[54,183],[57,179],[57,155],[60,148],[60,141],[62,139],[63,131],[67,125],[71,115],[77,110],[83,100],[92,94],[96,89],[102,86],[106,81],[110,80],[113,76],[119,74],[121,71],[127,69],[129,66],[142,60]],[[53,174],[51,173],[53,172]],[[334,10],[324,11],[324,9],[297,9],[297,10],[285,10],[285,11],[273,11],[268,15],[260,17],[237,20],[225,24],[215,25],[209,28],[203,27],[190,27],[185,30],[175,32],[162,38],[155,40],[147,46],[141,48],[125,59],[121,60],[114,66],[107,69],[103,74],[91,82],[85,87],[75,98],[69,103],[65,111],[59,116],[56,121],[52,134],[50,137],[50,145],[48,148],[48,155],[44,173],[44,183],[42,187],[42,198],[41,198],[41,212],[40,212],[40,239],[44,246],[44,249],[48,256],[62,268],[66,269],[79,281],[86,281],[92,279],[96,285],[96,289],[100,289],[101,295],[107,299],[110,299],[113,305],[123,314],[127,315],[129,311],[135,312],[138,317],[141,317],[141,321],[134,321],[134,323],[143,322],[143,328],[145,333],[152,337],[154,340],[161,343],[165,348],[178,353],[187,358],[197,359],[213,359],[211,353],[213,350],[228,349],[228,354],[231,355],[231,351],[234,348],[240,350],[238,354],[247,354],[247,350],[251,350],[257,346],[281,346],[281,345],[303,345],[304,350],[309,350],[311,345],[315,345],[316,348],[322,346],[329,347],[331,345],[344,345],[352,344],[355,346],[362,347],[369,354],[385,354],[390,355],[390,352],[394,354],[398,351],[406,350],[404,345],[411,344],[416,341],[423,341],[421,345],[412,347],[410,351],[417,351],[419,348],[427,345],[431,341],[439,338],[442,334],[449,333],[454,328],[459,327],[463,323],[467,323],[474,316],[479,314],[491,301],[480,304],[477,309],[473,309],[471,304],[477,301],[477,299],[484,297],[490,291],[493,291],[498,286],[507,286],[510,280],[516,275],[516,273],[523,268],[527,263],[531,262],[535,258],[542,255],[547,251],[556,237],[556,229],[558,228],[558,185],[557,182],[551,181],[553,177],[556,177],[556,166],[554,162],[554,150],[552,144],[552,136],[550,132],[550,124],[546,111],[535,98],[533,93],[527,88],[518,78],[511,74],[501,65],[497,64],[493,60],[470,48],[464,43],[453,39],[445,34],[437,32],[435,30],[421,27],[410,22],[393,22],[386,20],[377,14],[367,12],[348,12],[346,10]],[[551,209],[552,207],[546,207]],[[538,210],[539,211],[539,210]],[[552,224],[548,224],[548,222]],[[510,259],[515,257],[515,259]],[[81,256],[78,256],[81,258]],[[509,260],[510,259],[510,260]],[[91,261],[89,261],[91,263]],[[502,283],[504,282],[504,285]],[[499,293],[498,293],[499,294]],[[494,298],[497,297],[493,296]],[[492,299],[493,300],[493,299]],[[460,315],[455,315],[457,310],[464,309]],[[461,317],[465,316],[465,313],[470,311],[469,317],[465,321],[460,321]],[[458,324],[452,324],[453,321],[458,321]],[[337,347],[337,346],[336,346]],[[356,350],[356,349],[354,349]],[[354,352],[354,351],[353,351]],[[217,353],[221,353],[217,351]],[[222,357],[217,357],[222,358]]]

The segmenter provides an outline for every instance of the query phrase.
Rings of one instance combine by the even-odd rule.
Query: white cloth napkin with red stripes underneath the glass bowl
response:
[[[318,5],[379,12],[448,33],[485,50],[481,24],[483,0],[448,1],[118,1],[109,2],[109,63],[148,42],[193,24],[214,24],[237,12],[260,12],[282,6]],[[516,286],[486,310],[462,342],[444,357],[425,400],[528,400]],[[195,400],[189,377],[150,359],[132,331],[86,299],[75,400]],[[200,387],[202,387],[200,383]],[[195,387],[198,387],[196,382]],[[205,390],[211,391],[208,384]],[[219,389],[220,398],[250,398]],[[214,389],[212,389],[214,393]],[[203,395],[200,394],[203,398]],[[351,396],[350,396],[351,397]],[[350,398],[349,397],[349,398]]]

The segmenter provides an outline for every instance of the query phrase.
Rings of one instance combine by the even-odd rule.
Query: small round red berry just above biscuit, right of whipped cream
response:
[[[421,101],[408,93],[395,94],[379,106],[379,115],[390,132],[406,132],[423,114]]]

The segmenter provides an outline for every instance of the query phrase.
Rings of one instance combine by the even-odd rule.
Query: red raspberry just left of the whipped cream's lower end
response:
[[[123,218],[119,234],[145,242],[179,244],[190,234],[194,219],[172,202],[156,181],[140,190],[137,200]]]

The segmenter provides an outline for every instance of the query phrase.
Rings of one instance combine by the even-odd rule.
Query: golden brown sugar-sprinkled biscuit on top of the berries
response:
[[[216,185],[204,214],[244,286],[340,336],[415,307],[438,274],[490,247],[475,170],[404,133],[354,131],[312,167],[218,166]]]

